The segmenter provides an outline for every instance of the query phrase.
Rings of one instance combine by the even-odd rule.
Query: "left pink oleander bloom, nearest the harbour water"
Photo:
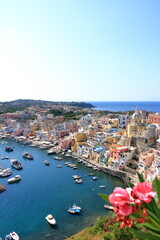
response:
[[[131,197],[126,189],[120,187],[115,188],[114,192],[109,195],[109,201],[114,207],[124,206],[130,203],[130,199]]]

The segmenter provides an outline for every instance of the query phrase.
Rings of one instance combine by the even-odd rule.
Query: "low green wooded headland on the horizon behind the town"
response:
[[[27,109],[28,107],[38,105],[44,108],[47,105],[52,106],[68,106],[68,107],[79,107],[79,108],[94,108],[91,103],[86,102],[54,102],[45,100],[33,100],[33,99],[18,99],[14,101],[0,102],[0,114],[8,112],[16,112]]]

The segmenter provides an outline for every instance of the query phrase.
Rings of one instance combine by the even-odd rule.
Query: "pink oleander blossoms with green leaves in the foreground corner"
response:
[[[128,226],[140,240],[160,239],[160,181],[155,179],[156,192],[150,183],[145,182],[138,174],[139,183],[131,184],[130,188],[117,187],[109,196],[99,194],[105,201],[113,206],[120,227]],[[157,197],[157,203],[155,198]],[[147,229],[146,231],[142,231]]]

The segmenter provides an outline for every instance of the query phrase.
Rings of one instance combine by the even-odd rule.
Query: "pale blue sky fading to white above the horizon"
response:
[[[0,101],[159,101],[159,0],[0,0]]]

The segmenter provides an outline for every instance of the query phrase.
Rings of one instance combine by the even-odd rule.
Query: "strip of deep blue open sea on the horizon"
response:
[[[97,110],[108,110],[112,112],[118,111],[134,111],[135,108],[139,110],[146,110],[149,112],[160,112],[160,101],[151,102],[89,102],[95,106]]]

